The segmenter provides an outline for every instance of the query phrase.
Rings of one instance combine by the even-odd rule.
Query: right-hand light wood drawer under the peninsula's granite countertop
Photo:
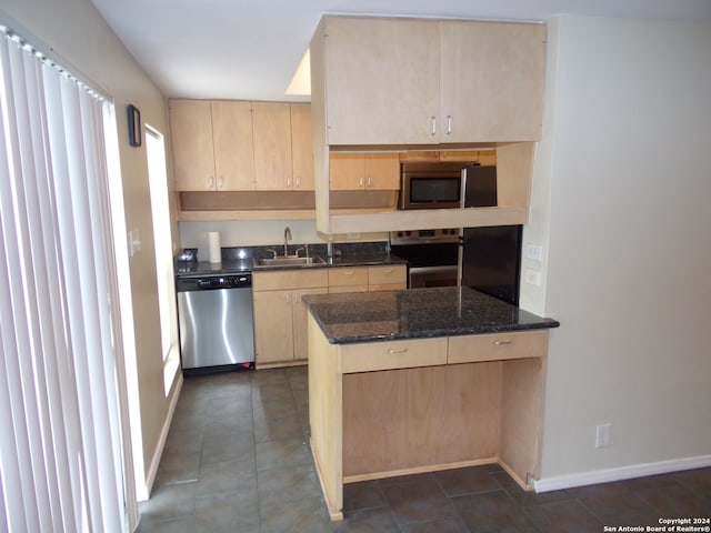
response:
[[[542,358],[547,351],[547,330],[450,336],[447,362],[452,364]]]

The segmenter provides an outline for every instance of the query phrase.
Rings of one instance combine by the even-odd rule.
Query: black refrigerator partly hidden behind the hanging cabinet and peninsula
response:
[[[463,207],[497,205],[497,168],[465,168]],[[513,305],[519,304],[522,225],[464,228],[460,248],[460,280]]]

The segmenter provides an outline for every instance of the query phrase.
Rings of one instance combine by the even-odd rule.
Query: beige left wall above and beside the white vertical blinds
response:
[[[123,238],[128,229],[138,229],[142,240],[142,251],[130,259],[128,282],[134,316],[142,466],[149,471],[160,459],[161,439],[176,391],[169,398],[163,392],[146,147],[129,145],[126,107],[133,103],[141,110],[143,122],[167,133],[166,102],[90,0],[3,0],[0,9],[12,19],[3,22],[21,26],[14,28],[18,31],[29,31],[31,34],[24,37],[37,39],[39,42],[34,43],[46,50],[50,48],[64,67],[106,91],[116,104],[127,224],[116,229],[117,238]],[[130,351],[133,346],[126,348]]]

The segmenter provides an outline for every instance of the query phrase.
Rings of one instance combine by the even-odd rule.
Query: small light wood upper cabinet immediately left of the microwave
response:
[[[400,155],[331,152],[329,174],[331,191],[394,191],[400,188]]]

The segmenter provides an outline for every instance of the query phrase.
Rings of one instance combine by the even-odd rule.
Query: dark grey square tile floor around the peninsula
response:
[[[304,368],[186,379],[138,531],[570,533],[711,516],[711,469],[533,494],[487,465],[347,485],[346,520],[330,522],[307,429]]]

